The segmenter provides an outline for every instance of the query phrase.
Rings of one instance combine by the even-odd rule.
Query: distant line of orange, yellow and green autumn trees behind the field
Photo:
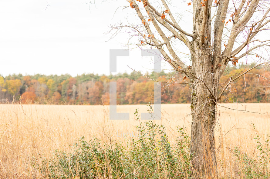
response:
[[[219,90],[229,76],[245,71],[246,66],[228,67],[220,81]],[[249,71],[226,87],[221,102],[269,102],[270,72],[265,69]],[[138,72],[116,75],[8,75],[0,76],[0,102],[17,101],[25,104],[89,104],[110,103],[110,82],[117,84],[117,104],[147,104],[153,101],[154,82],[161,83],[161,103],[190,103],[191,89],[186,76],[176,72]]]

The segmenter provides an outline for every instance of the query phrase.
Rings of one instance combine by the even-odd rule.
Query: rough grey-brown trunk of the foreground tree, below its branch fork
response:
[[[196,178],[216,178],[214,127],[217,82],[213,79],[209,49],[193,55],[191,163]],[[202,64],[209,64],[205,66]]]

